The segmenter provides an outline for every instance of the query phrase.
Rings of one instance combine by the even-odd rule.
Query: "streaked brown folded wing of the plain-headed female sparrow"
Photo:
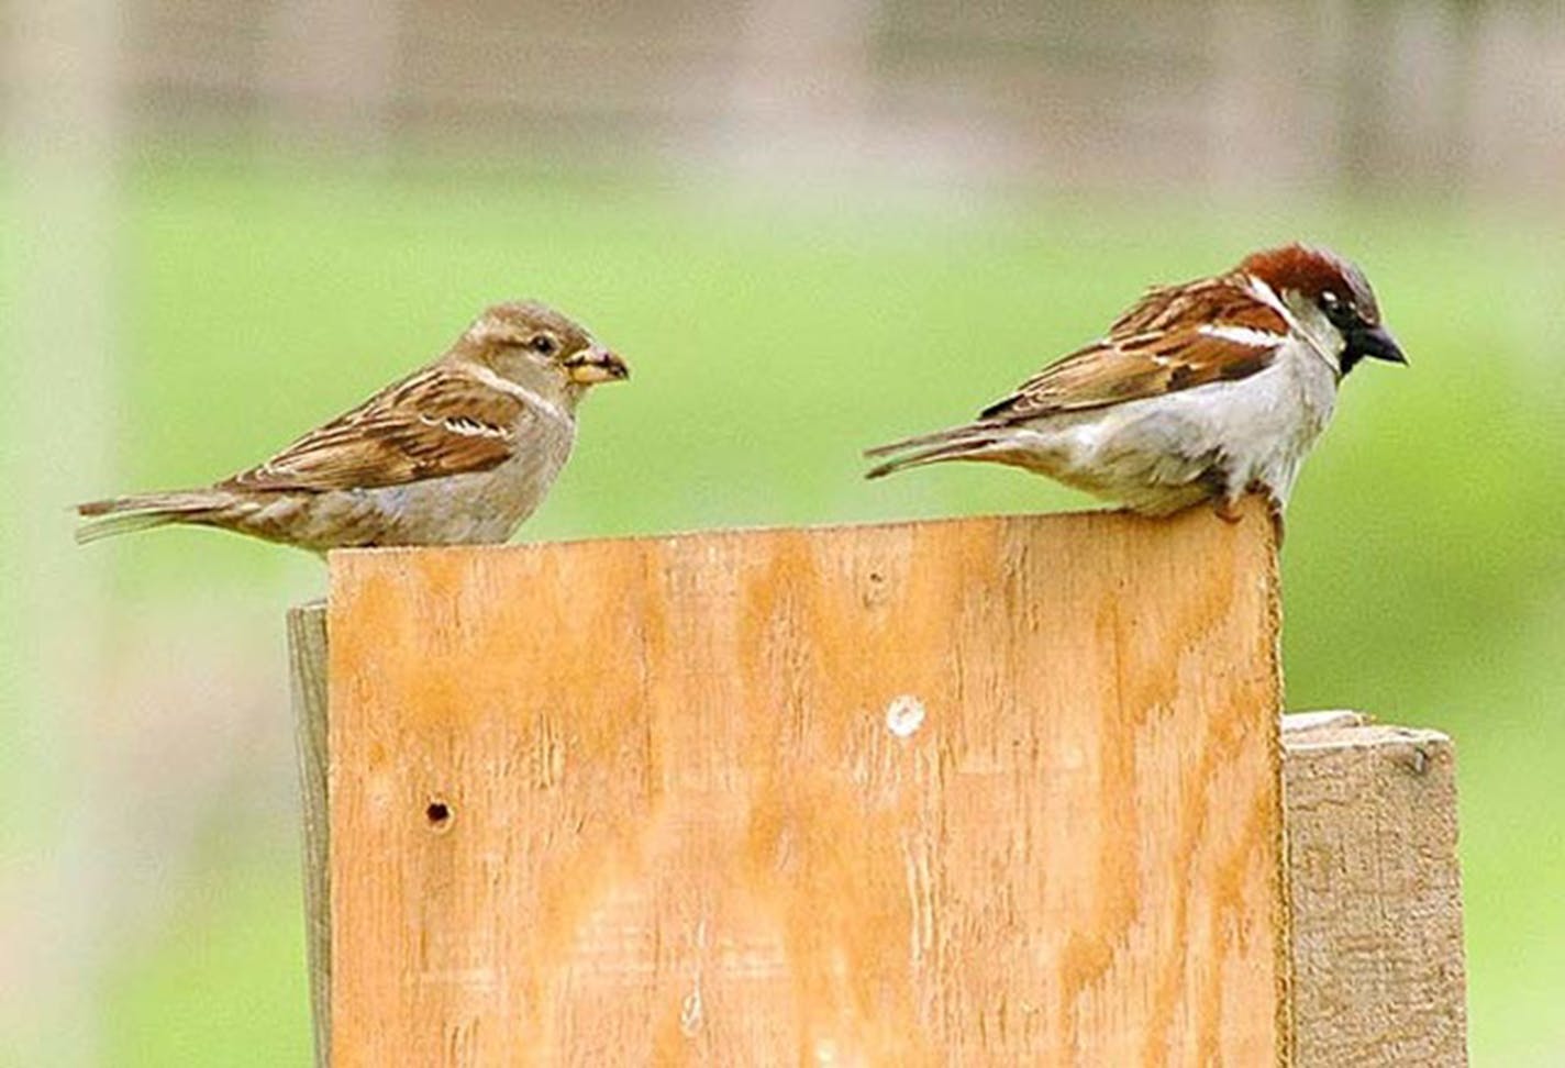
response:
[[[224,486],[352,489],[488,471],[512,455],[524,403],[448,366],[388,386]]]

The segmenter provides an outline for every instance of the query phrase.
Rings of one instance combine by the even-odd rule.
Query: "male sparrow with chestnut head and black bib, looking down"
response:
[[[1280,518],[1360,360],[1407,363],[1363,272],[1293,244],[1214,278],[1150,289],[1094,341],[977,422],[870,449],[867,477],[944,460],[1036,471],[1149,516],[1202,500]]]

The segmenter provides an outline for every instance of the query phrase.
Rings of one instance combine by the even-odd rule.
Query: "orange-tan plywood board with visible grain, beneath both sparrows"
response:
[[[1275,597],[1258,513],[333,554],[332,1060],[1279,1062]]]

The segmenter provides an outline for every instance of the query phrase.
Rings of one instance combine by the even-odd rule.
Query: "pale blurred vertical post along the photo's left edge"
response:
[[[102,555],[72,544],[69,504],[108,485],[119,0],[11,6],[6,116],[8,339],[0,543],[0,776],[13,791],[0,887],[36,915],[0,932],[17,1063],[97,1060],[105,835],[91,722],[103,711]],[[13,1049],[16,1049],[13,1046]]]

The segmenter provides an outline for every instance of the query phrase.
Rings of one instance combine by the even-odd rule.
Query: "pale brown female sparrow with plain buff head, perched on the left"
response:
[[[443,357],[275,457],[205,489],[77,505],[77,541],[172,522],[313,552],[505,541],[549,491],[576,405],[626,378],[617,355],[541,303],[487,310]]]

